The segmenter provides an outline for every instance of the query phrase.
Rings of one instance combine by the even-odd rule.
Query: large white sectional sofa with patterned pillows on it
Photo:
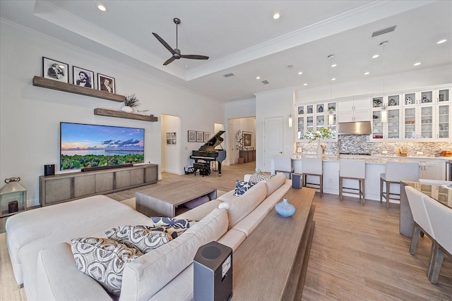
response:
[[[119,300],[192,300],[198,248],[216,240],[237,250],[290,186],[280,173],[240,197],[234,197],[232,190],[176,216],[198,223],[126,264]],[[77,269],[69,242],[79,237],[105,238],[105,231],[121,225],[151,224],[148,216],[103,195],[11,216],[6,231],[16,281],[25,286],[28,300],[115,299]]]

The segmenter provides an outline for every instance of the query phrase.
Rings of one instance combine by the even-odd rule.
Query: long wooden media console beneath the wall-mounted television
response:
[[[44,207],[91,195],[107,195],[157,181],[157,164],[40,176],[40,204]]]

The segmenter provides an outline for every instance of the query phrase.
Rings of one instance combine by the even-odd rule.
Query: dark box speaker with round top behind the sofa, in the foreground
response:
[[[199,247],[194,258],[194,301],[227,301],[232,297],[232,249],[220,242]]]

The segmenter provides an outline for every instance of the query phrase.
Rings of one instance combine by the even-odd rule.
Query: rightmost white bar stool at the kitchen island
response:
[[[380,173],[380,202],[386,199],[386,208],[389,208],[389,199],[400,201],[400,192],[391,192],[391,184],[400,187],[400,181],[417,181],[419,178],[419,164],[410,162],[386,162],[385,173]],[[383,185],[386,184],[386,185]],[[383,190],[385,186],[386,190]]]

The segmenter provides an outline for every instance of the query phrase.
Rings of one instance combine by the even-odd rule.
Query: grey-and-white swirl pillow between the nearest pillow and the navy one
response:
[[[143,254],[165,245],[172,238],[162,231],[155,231],[147,226],[118,226],[106,231],[107,238],[134,247]]]

